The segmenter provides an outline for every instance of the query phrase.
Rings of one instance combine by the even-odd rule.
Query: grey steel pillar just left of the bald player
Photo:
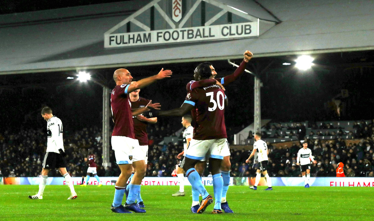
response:
[[[102,87],[102,164],[104,167],[111,167],[109,160],[110,93],[108,87]]]

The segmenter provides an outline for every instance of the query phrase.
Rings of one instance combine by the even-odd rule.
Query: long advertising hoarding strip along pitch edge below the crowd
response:
[[[114,185],[118,177],[101,177],[102,185]],[[73,184],[82,184],[82,178],[73,177]],[[39,177],[4,177],[0,178],[0,184],[13,185],[39,185]],[[211,177],[203,177],[202,183],[206,186],[212,186]],[[97,185],[95,178],[91,178],[88,185]],[[234,177],[230,178],[231,185],[252,186],[255,184],[255,177]],[[66,185],[62,177],[49,177],[47,185]],[[145,177],[141,185],[148,186],[176,186],[178,179],[175,177]],[[191,185],[187,178],[184,178],[184,185]],[[260,179],[259,186],[267,186],[265,178]],[[273,186],[304,186],[304,179],[301,177],[272,177]],[[311,177],[310,186],[315,187],[374,187],[374,178],[369,177]]]

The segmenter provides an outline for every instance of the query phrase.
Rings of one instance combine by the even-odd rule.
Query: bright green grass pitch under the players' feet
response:
[[[75,186],[78,198],[67,200],[67,186],[47,185],[42,200],[28,199],[37,185],[0,185],[0,220],[374,220],[371,187],[273,187],[257,191],[231,186],[227,200],[234,214],[211,214],[213,204],[203,214],[192,214],[191,187],[186,196],[173,197],[178,187],[142,186],[145,214],[114,214],[110,211],[114,186]],[[213,188],[207,187],[213,194]],[[125,203],[125,201],[123,201]]]

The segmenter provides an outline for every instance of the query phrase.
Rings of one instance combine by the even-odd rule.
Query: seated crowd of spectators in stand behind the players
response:
[[[358,125],[358,124],[357,124]],[[360,126],[361,125],[361,126]],[[306,139],[308,148],[318,161],[311,166],[312,176],[336,176],[339,162],[344,163],[346,176],[373,176],[374,170],[374,134],[373,124],[360,123],[356,126],[357,137],[363,137],[358,143],[346,143],[338,137],[336,140]],[[301,126],[301,125],[297,125]],[[331,125],[330,125],[331,126]],[[148,125],[148,167],[146,176],[171,176],[179,160],[177,155],[183,150],[182,143],[159,145],[163,137],[172,135],[175,131],[172,125]],[[369,133],[369,132],[371,133]],[[67,170],[71,176],[85,176],[88,165],[84,158],[88,149],[93,149],[98,164],[98,176],[118,176],[120,171],[116,166],[114,152],[110,150],[112,167],[102,166],[102,133],[99,127],[83,128],[79,131],[64,133],[65,152],[67,153]],[[249,138],[253,134],[249,134]],[[268,173],[270,176],[301,176],[299,166],[296,166],[300,142],[292,146],[275,147],[270,143]],[[40,130],[19,130],[18,133],[0,132],[0,176],[39,176],[42,171],[42,161],[46,149],[46,134]],[[249,156],[246,150],[231,150],[230,161],[232,176],[255,176],[257,162],[245,163]],[[207,165],[207,168],[209,164]],[[209,176],[208,169],[205,176]],[[51,171],[49,176],[60,176],[58,171]]]

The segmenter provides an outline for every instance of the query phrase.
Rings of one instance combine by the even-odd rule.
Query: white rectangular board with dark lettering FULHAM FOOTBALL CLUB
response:
[[[173,15],[174,16],[174,15]],[[258,36],[258,22],[105,34],[105,48]]]

